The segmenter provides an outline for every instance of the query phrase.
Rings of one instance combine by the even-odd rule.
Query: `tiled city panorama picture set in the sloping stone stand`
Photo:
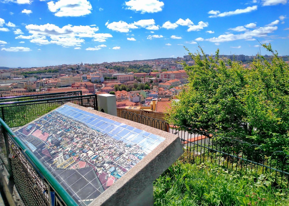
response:
[[[68,105],[15,134],[79,205],[88,205],[165,139]]]

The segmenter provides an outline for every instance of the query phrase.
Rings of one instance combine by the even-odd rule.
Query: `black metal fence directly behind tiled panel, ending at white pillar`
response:
[[[68,96],[26,101],[1,102],[1,118],[10,128],[21,127],[53,109],[72,102],[80,106],[98,109],[97,95]]]

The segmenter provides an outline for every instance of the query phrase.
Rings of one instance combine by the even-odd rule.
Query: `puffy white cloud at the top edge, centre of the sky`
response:
[[[144,13],[154,13],[162,11],[164,7],[164,2],[158,0],[130,0],[125,2],[127,9],[136,12]]]

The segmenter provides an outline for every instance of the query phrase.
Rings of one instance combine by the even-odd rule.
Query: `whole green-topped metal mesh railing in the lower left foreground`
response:
[[[4,179],[11,192],[18,193],[14,195],[17,205],[77,206],[75,200],[1,118],[0,124],[2,129],[0,159],[4,165],[2,175],[6,174]],[[23,176],[25,182],[21,181],[19,176]],[[55,198],[51,198],[53,192]]]

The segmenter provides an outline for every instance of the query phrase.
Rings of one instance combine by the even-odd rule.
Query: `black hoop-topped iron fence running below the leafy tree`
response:
[[[123,111],[122,118],[178,135],[184,150],[182,161],[216,163],[241,176],[249,172],[259,176],[268,174],[275,183],[289,185],[289,155],[283,151],[268,155],[259,145],[177,124],[170,126],[166,121],[129,111]]]

